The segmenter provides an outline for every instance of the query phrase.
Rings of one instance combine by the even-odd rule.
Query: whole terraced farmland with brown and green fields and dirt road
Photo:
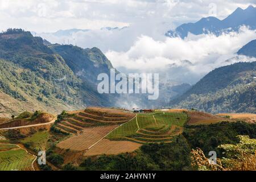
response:
[[[200,130],[228,129],[236,137],[240,133],[237,126],[246,126],[251,128],[247,134],[253,137],[256,129],[255,123],[251,122],[255,114],[213,115],[185,109],[133,113],[123,109],[87,107],[84,110],[63,111],[54,119],[54,123],[49,122],[54,116],[40,114],[31,121],[33,115],[35,113],[21,113],[18,118],[24,118],[23,122],[18,118],[9,121],[7,118],[1,119],[0,164],[5,166],[1,170],[60,170],[67,167],[82,170],[88,168],[87,163],[94,164],[102,157],[113,157],[111,160],[114,160],[114,156],[124,155],[127,158],[131,155],[137,158],[142,155],[144,147],[171,147],[184,139],[192,145],[203,147],[190,141],[191,135],[199,134],[197,132]],[[31,121],[31,125],[26,121]],[[38,126],[39,121],[41,124]],[[6,126],[15,127],[5,129]],[[222,129],[216,134],[226,135]],[[27,152],[19,146],[27,148]],[[39,166],[33,157],[42,150],[47,154],[46,166]]]

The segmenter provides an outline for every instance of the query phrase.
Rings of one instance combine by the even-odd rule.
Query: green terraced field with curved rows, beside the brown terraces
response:
[[[138,143],[171,142],[172,137],[183,129],[187,119],[185,113],[138,114],[136,118],[112,131],[106,138]]]

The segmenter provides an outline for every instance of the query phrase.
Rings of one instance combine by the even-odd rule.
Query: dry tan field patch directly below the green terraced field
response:
[[[117,155],[126,152],[133,152],[141,146],[142,144],[129,141],[111,141],[103,139],[101,142],[90,148],[84,155]]]

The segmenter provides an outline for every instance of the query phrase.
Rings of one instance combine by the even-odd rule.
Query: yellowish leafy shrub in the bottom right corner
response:
[[[237,138],[240,139],[237,144],[218,146],[225,156],[217,159],[217,164],[210,164],[200,148],[192,150],[191,166],[199,170],[210,171],[256,171],[256,139],[241,135]]]

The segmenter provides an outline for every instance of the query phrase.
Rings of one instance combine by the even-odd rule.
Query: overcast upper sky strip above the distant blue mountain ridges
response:
[[[0,27],[35,32],[155,23],[166,27],[216,14],[224,18],[255,0],[0,0]],[[214,11],[216,9],[216,11]]]

